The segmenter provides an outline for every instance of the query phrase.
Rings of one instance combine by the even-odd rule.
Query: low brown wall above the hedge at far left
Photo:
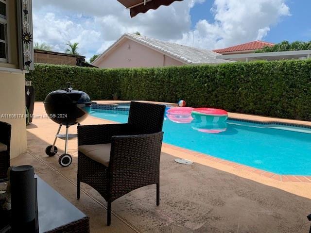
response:
[[[77,58],[35,52],[35,63],[75,66]]]

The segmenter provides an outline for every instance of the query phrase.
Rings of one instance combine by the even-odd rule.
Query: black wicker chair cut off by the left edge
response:
[[[11,125],[0,121],[0,180],[7,179],[10,166]]]

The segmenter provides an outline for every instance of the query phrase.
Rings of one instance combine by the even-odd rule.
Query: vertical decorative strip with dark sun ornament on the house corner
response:
[[[34,69],[32,0],[17,0],[19,19],[20,66],[24,70]]]

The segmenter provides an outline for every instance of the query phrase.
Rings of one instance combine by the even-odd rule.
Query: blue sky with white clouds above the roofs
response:
[[[131,18],[117,0],[33,0],[34,42],[64,52],[78,42],[88,60],[123,33],[207,50],[253,40],[310,41],[311,0],[183,0]]]

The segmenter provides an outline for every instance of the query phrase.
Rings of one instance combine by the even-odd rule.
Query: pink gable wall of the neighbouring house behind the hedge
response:
[[[182,66],[179,62],[135,41],[125,39],[93,65],[100,68]]]

